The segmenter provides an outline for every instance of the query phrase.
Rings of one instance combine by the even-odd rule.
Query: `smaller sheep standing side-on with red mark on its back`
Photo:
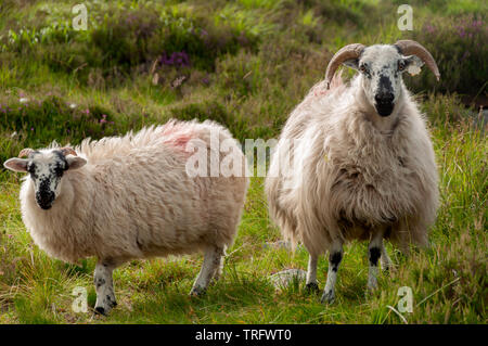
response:
[[[242,174],[192,178],[185,168],[193,156],[190,144],[205,151],[203,165],[210,156],[226,157]],[[112,272],[130,259],[203,251],[192,295],[220,275],[247,178],[239,143],[218,124],[171,120],[136,134],[86,139],[75,149],[55,143],[26,149],[20,156],[28,158],[11,158],[4,166],[29,174],[21,189],[23,221],[53,257],[69,262],[98,257],[97,312],[116,305]]]

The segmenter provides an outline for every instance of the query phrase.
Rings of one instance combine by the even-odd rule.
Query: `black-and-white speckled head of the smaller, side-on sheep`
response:
[[[27,159],[11,158],[3,166],[30,175],[37,205],[44,210],[52,207],[61,193],[62,177],[68,169],[78,169],[87,161],[78,156],[65,156],[60,150],[33,151]]]

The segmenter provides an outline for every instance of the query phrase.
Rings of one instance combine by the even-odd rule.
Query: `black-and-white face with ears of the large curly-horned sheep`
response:
[[[386,117],[395,111],[401,97],[402,74],[408,68],[418,69],[423,62],[415,55],[403,56],[394,46],[375,44],[345,64],[362,74],[361,85],[368,102],[380,116]]]

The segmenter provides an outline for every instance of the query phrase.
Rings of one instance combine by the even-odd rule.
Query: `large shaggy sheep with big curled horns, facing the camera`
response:
[[[406,251],[427,244],[438,206],[437,168],[425,120],[402,73],[432,55],[415,41],[349,44],[331,60],[325,79],[292,112],[274,149],[266,193],[271,218],[308,249],[307,287],[318,290],[318,256],[329,251],[322,302],[335,298],[343,244],[370,240],[368,287],[377,286],[377,261],[390,259],[383,239]],[[360,73],[350,86],[334,76],[341,64]],[[293,170],[283,169],[283,158]]]

